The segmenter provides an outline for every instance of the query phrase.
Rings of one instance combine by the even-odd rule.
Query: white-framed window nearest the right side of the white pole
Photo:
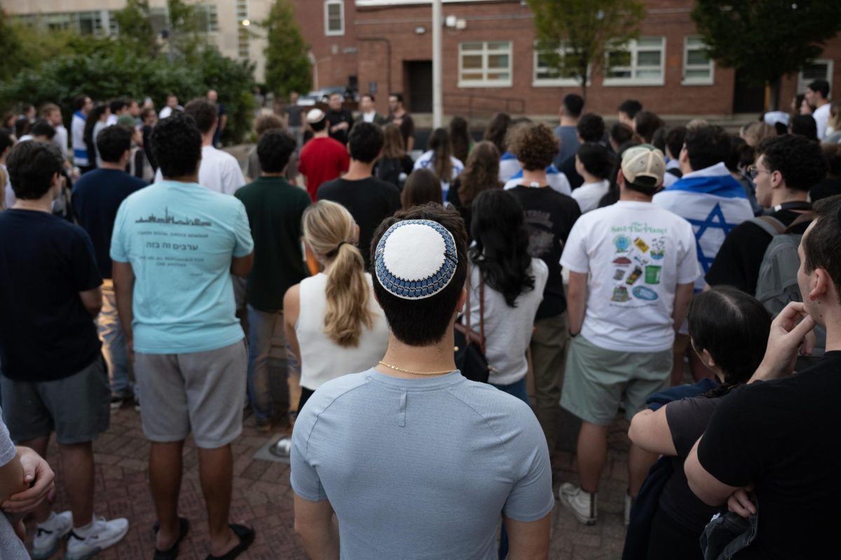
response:
[[[470,41],[458,44],[458,86],[510,86],[510,41]]]

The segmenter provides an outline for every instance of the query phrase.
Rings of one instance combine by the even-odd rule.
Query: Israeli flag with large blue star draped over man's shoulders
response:
[[[654,195],[654,202],[692,224],[695,231],[698,262],[704,273],[716,259],[727,233],[754,217],[744,187],[733,179],[723,163],[692,171]],[[704,287],[704,278],[696,280],[696,289]]]

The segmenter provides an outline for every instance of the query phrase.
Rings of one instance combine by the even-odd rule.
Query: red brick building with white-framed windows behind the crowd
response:
[[[410,111],[431,112],[430,0],[294,0],[304,39],[311,45],[314,88],[358,84],[375,92],[380,111],[388,92],[403,92]],[[728,118],[759,113],[764,92],[736,72],[706,60],[691,0],[646,0],[648,15],[630,55],[616,56],[611,71],[590,77],[587,109],[616,112],[636,98],[664,116]],[[520,0],[444,0],[444,113],[481,117],[497,111],[553,115],[560,99],[578,92],[558,79],[536,52],[532,13]],[[816,77],[841,87],[841,39],[798,76],[787,77],[780,103]]]

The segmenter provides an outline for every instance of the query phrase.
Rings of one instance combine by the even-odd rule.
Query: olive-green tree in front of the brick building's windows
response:
[[[645,18],[643,0],[528,0],[528,6],[542,60],[557,76],[579,81],[585,99],[588,76],[627,56],[623,46],[639,36]]]

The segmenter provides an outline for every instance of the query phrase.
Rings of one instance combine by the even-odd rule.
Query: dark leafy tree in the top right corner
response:
[[[696,0],[692,18],[712,59],[765,86],[777,107],[780,78],[821,54],[841,29],[837,0]],[[772,88],[775,94],[772,96]]]

